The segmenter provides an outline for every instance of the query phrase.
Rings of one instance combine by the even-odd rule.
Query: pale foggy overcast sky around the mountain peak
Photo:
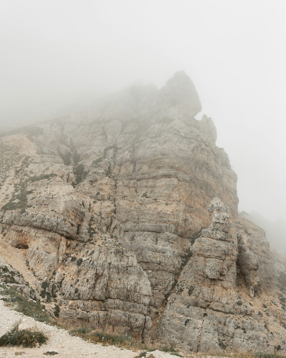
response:
[[[1,0],[0,123],[184,69],[238,175],[239,209],[285,210],[286,1]]]

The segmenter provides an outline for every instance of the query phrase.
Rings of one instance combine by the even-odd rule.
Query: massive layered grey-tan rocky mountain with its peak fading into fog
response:
[[[285,265],[238,217],[199,111],[181,71],[2,136],[1,239],[61,318],[188,352],[284,350]]]

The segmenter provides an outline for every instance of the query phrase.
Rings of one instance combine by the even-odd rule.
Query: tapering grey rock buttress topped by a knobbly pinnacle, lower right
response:
[[[277,325],[275,316],[285,314],[266,297],[256,298],[255,304],[251,300],[262,293],[261,280],[267,277],[265,262],[273,269],[271,254],[264,250],[261,260],[261,248],[256,247],[258,257],[251,251],[253,247],[243,241],[241,232],[235,234],[233,227],[238,223],[230,228],[229,208],[220,199],[213,199],[208,209],[212,212],[210,226],[191,247],[192,257],[181,272],[159,322],[159,338],[188,351],[227,348],[273,353],[286,333]],[[248,229],[246,238],[254,239],[255,234]],[[265,281],[268,283],[267,278]],[[248,294],[239,289],[242,285],[248,286]],[[273,283],[271,287],[274,288]],[[269,288],[266,284],[265,289]],[[272,313],[267,311],[262,321],[261,311],[267,309],[269,302]]]

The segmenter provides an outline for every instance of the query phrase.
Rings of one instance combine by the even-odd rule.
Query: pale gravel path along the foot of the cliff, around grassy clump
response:
[[[0,336],[9,331],[19,322],[23,315],[4,305],[0,300]],[[40,348],[21,348],[21,347],[0,347],[0,357],[15,358],[20,352],[21,357],[50,357],[43,353],[55,351],[59,354],[56,358],[134,358],[138,352],[122,349],[114,346],[102,346],[86,342],[79,337],[73,337],[64,329],[41,323],[44,334],[49,338],[46,344]]]

